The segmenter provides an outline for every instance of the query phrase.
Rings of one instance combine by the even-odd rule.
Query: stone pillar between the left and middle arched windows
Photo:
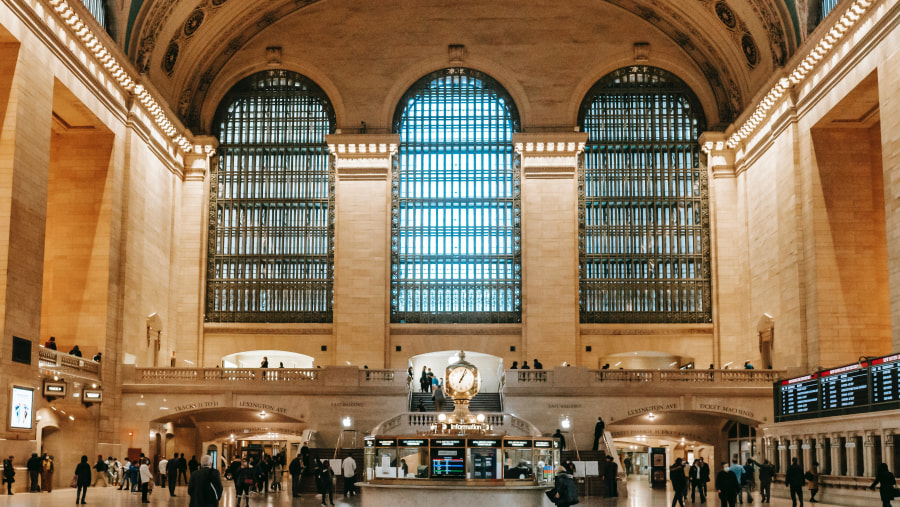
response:
[[[390,367],[391,166],[400,136],[336,134],[325,140],[337,170],[333,364],[352,359],[369,368]]]

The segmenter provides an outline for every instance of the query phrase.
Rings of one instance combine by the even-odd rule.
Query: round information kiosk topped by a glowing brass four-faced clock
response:
[[[557,442],[509,414],[469,412],[481,377],[464,352],[444,378],[452,414],[401,414],[365,437],[366,482],[358,484],[363,506],[544,505],[559,463]],[[404,419],[415,434],[401,427]]]

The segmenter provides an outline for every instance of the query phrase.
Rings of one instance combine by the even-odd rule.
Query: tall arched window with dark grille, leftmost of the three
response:
[[[331,322],[334,129],[325,93],[271,70],[235,85],[216,114],[206,318]]]

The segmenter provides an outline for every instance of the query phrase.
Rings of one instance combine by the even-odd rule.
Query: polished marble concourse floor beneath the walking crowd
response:
[[[5,489],[4,489],[5,493]],[[187,496],[187,488],[182,486],[178,487],[175,490],[176,497],[172,498],[169,496],[168,490],[162,490],[160,488],[156,488],[156,490],[150,495],[150,503],[142,504],[141,496],[138,493],[127,493],[125,491],[119,491],[115,488],[91,488],[88,490],[86,502],[87,505],[97,505],[103,507],[120,507],[125,505],[156,505],[156,506],[170,506],[170,507],[188,507],[189,497]],[[784,498],[773,498],[771,503],[762,504],[759,501],[759,495],[754,493],[754,502],[753,506],[771,506],[771,507],[790,507],[791,501],[790,499]],[[16,506],[37,506],[37,507],[51,507],[58,505],[69,505],[75,502],[75,490],[69,488],[57,489],[52,493],[17,493],[13,496],[0,495],[0,507],[8,506],[8,505],[16,505]],[[628,481],[628,497],[621,497],[618,499],[612,498],[595,498],[595,497],[586,497],[582,498],[579,506],[581,507],[647,507],[647,506],[669,506],[672,503],[672,491],[671,489],[660,490],[660,489],[650,489],[647,485],[646,480],[629,480]],[[879,505],[881,502],[878,500],[878,496],[876,493],[872,493],[872,504],[871,505]],[[318,495],[303,495],[302,498],[292,498],[290,493],[286,491],[282,491],[279,493],[269,493],[268,495],[257,495],[252,494],[250,497],[250,505],[251,506],[299,506],[299,505],[320,505],[321,500]],[[360,497],[354,497],[349,499],[344,499],[344,497],[340,495],[335,495],[334,504],[338,507],[344,506],[359,506],[362,505]],[[236,507],[235,496],[234,496],[234,488],[229,482],[226,484],[225,495],[222,499],[222,502],[219,504],[221,507]],[[552,507],[549,502],[545,501],[545,505]],[[703,505],[704,507],[719,507],[720,503],[718,499],[710,499],[706,504],[691,504],[687,502],[685,505],[696,505],[700,507]],[[741,504],[738,504],[741,505]],[[743,504],[743,505],[751,505],[751,504]],[[828,503],[817,503],[810,504],[806,503],[805,505],[817,505],[821,507],[831,507],[834,504]],[[397,507],[405,507],[398,504]],[[409,507],[430,507],[430,506],[422,506],[422,505],[411,505]],[[473,504],[471,507],[478,507]],[[506,506],[492,506],[492,507],[506,507]],[[515,507],[515,506],[509,506]]]

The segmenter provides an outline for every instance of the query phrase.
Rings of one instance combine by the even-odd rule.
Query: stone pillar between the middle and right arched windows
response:
[[[581,364],[578,157],[586,141],[577,132],[513,136],[522,157],[522,355],[548,368]]]

